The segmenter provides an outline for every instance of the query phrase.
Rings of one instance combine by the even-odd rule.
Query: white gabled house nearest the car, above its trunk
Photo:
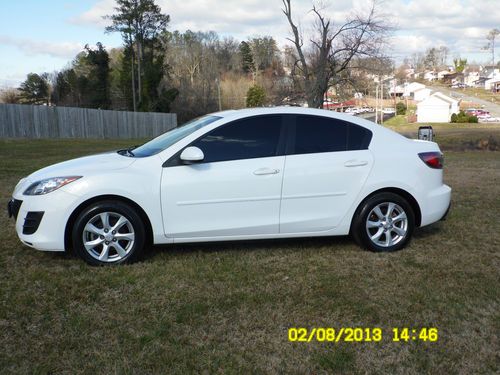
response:
[[[436,92],[417,104],[417,122],[450,122],[458,112],[458,100]]]

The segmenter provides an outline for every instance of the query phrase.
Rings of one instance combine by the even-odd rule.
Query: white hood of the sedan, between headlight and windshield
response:
[[[136,159],[117,152],[107,152],[49,165],[30,174],[27,180],[35,182],[50,177],[85,176],[99,171],[127,168],[135,161]]]

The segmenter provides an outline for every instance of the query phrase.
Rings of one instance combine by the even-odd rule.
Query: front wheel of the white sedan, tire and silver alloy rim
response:
[[[72,231],[75,252],[93,266],[133,263],[144,254],[144,223],[120,201],[95,202],[77,217]]]

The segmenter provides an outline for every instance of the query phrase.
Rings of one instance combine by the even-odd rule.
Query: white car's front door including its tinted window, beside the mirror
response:
[[[179,240],[277,234],[285,159],[281,133],[281,116],[255,116],[190,144],[203,151],[202,162],[179,160],[163,168],[165,234]]]

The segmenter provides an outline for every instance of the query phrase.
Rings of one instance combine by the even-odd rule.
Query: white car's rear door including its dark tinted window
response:
[[[297,115],[289,128],[280,233],[330,230],[347,213],[372,168],[372,133],[311,115]]]

